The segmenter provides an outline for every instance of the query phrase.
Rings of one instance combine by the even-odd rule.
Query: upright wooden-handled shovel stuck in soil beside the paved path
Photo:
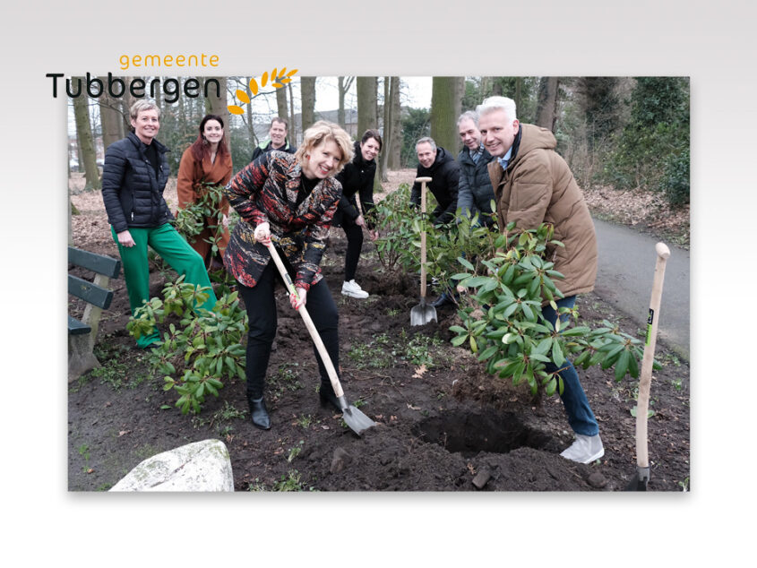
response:
[[[647,413],[649,412],[649,389],[652,382],[652,365],[657,344],[659,303],[662,298],[662,284],[665,280],[665,263],[670,256],[670,249],[664,243],[655,246],[657,263],[655,280],[652,284],[652,297],[649,299],[649,318],[647,319],[647,339],[644,344],[644,357],[641,359],[641,378],[639,379],[639,398],[636,401],[636,474],[626,491],[646,491],[649,482],[649,450],[647,447]]]

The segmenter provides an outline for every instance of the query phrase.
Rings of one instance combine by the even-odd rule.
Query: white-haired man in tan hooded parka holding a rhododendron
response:
[[[495,158],[488,168],[499,227],[511,221],[516,230],[538,228],[543,222],[555,227],[555,239],[564,247],[547,248],[546,260],[555,262],[555,271],[565,277],[557,283],[564,294],[556,301],[558,308],[572,307],[577,294],[594,289],[597,277],[597,237],[581,189],[555,152],[555,136],[546,128],[520,124],[512,99],[490,97],[476,110],[484,147]],[[555,324],[557,314],[551,306],[546,305],[542,314]],[[547,372],[556,370],[547,365]],[[598,460],[605,450],[578,373],[566,361],[560,375],[561,398],[576,437],[560,455],[581,463]]]

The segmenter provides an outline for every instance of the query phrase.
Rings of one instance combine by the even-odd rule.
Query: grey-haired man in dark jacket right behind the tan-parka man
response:
[[[489,179],[487,164],[492,155],[486,151],[478,131],[478,115],[467,110],[458,118],[458,131],[463,149],[458,155],[460,163],[460,185],[458,207],[464,215],[473,219],[478,214],[478,224],[485,227],[494,225],[492,201],[495,192]]]

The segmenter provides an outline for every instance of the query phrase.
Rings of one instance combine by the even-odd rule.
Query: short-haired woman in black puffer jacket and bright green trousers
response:
[[[166,148],[155,140],[160,129],[160,109],[150,100],[140,99],[129,111],[133,132],[113,142],[105,152],[102,174],[102,199],[108,211],[111,234],[118,245],[124,265],[126,291],[132,314],[150,301],[150,267],[147,247],[151,246],[185,281],[211,286],[202,256],[187,244],[169,223],[174,216],[168,211],[163,190],[168,181]],[[212,309],[216,296],[198,308]],[[141,348],[160,339],[159,333],[137,340]]]

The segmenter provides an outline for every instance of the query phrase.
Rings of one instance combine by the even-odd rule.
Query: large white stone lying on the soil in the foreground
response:
[[[226,444],[188,443],[142,461],[111,491],[234,491]]]

